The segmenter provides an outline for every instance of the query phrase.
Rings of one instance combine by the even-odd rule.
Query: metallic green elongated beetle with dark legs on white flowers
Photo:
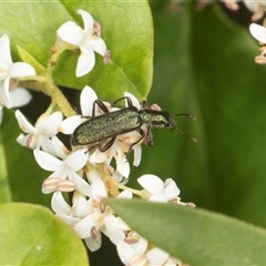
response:
[[[130,152],[132,147],[143,139],[147,146],[152,146],[152,127],[178,130],[182,134],[196,142],[196,139],[176,127],[174,116],[162,111],[157,105],[147,108],[146,102],[144,101],[142,109],[139,110],[127,96],[119,99],[114,103],[124,99],[127,101],[127,108],[114,112],[110,112],[103,102],[95,100],[93,103],[92,117],[74,130],[71,137],[71,144],[73,146],[95,144],[101,152],[105,152],[113,145],[117,135],[137,131],[141,136],[136,142],[131,144],[129,149]],[[103,111],[102,115],[95,116],[96,105]],[[186,115],[190,119],[195,120],[193,115],[186,113],[177,115]],[[100,144],[103,142],[105,142],[105,145],[101,146]]]

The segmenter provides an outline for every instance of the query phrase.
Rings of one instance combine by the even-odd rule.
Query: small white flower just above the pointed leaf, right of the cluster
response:
[[[156,175],[146,174],[137,178],[139,184],[151,195],[149,201],[168,202],[180,195],[180,188],[172,178],[163,182]]]

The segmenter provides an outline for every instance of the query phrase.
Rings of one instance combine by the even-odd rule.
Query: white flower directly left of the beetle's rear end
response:
[[[28,122],[19,110],[16,111],[16,117],[20,129],[28,133],[27,135],[20,134],[17,139],[22,146],[27,146],[32,150],[42,149],[50,154],[54,154],[51,137],[57,135],[58,127],[63,120],[61,112],[54,112],[49,116],[47,114],[41,115],[34,126]]]

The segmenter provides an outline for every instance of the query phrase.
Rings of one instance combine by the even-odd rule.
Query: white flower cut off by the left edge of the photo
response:
[[[22,76],[35,75],[34,69],[24,62],[13,63],[10,54],[9,37],[0,38],[0,105],[8,109],[21,106],[31,100],[31,95],[22,88],[16,89],[16,81]],[[17,91],[11,95],[10,91]]]

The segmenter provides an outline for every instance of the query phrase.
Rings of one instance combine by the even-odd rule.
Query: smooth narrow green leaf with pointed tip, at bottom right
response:
[[[134,231],[190,265],[266,262],[266,231],[250,224],[203,209],[140,200],[112,200],[110,205]]]

